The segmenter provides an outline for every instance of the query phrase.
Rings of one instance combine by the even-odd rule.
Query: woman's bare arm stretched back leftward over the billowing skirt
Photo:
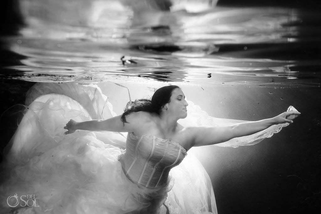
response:
[[[135,112],[136,113],[136,112]],[[88,131],[110,131],[110,132],[134,132],[135,125],[139,123],[139,114],[132,113],[126,116],[128,123],[123,123],[120,118],[122,115],[111,117],[107,120],[88,120],[84,122],[76,122],[71,119],[64,129],[68,131],[65,134],[74,133],[77,129]]]

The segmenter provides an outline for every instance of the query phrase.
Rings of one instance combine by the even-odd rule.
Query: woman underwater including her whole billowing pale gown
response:
[[[64,89],[67,96],[84,100],[78,92],[82,88],[99,112],[100,90],[74,85]],[[43,94],[53,93],[46,91],[50,87],[39,88],[45,88]],[[73,88],[78,91],[70,92]],[[300,114],[287,111],[255,122],[183,127],[177,121],[187,117],[188,103],[178,86],[169,85],[156,90],[151,100],[129,102],[122,115],[91,120],[82,107],[70,108],[73,102],[57,91],[60,95],[42,101],[31,98],[31,113],[25,117],[28,123],[37,118],[31,122],[36,131],[29,130],[26,137],[26,131],[19,134],[18,128],[9,143],[10,179],[0,189],[1,205],[7,210],[4,200],[14,210],[18,208],[13,207],[15,196],[33,194],[33,205],[38,206],[22,207],[20,201],[19,213],[22,209],[28,213],[31,209],[33,213],[217,213],[209,176],[187,151],[292,123]],[[61,136],[57,133],[66,118],[73,119],[64,127],[66,135]],[[261,135],[265,138],[278,131],[280,128]],[[115,132],[128,133],[126,146]],[[256,135],[252,141],[259,138]]]

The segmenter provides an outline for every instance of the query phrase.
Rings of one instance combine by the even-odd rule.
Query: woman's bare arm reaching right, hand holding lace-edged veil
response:
[[[192,146],[212,145],[229,141],[232,138],[247,136],[267,129],[274,124],[293,123],[287,117],[299,116],[301,113],[288,111],[282,114],[259,121],[238,123],[225,127],[190,127],[189,132],[193,136]]]

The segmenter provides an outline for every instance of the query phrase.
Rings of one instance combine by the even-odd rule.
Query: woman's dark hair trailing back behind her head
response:
[[[128,102],[120,120],[125,124],[127,123],[126,115],[139,111],[147,111],[160,115],[161,108],[170,102],[170,97],[174,89],[180,88],[177,85],[164,86],[155,91],[152,99],[136,99],[134,102]]]

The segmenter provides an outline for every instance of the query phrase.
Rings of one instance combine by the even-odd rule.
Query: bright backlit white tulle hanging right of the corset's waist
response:
[[[171,175],[175,184],[165,201],[171,214],[217,214],[211,179],[193,153],[188,153]]]

